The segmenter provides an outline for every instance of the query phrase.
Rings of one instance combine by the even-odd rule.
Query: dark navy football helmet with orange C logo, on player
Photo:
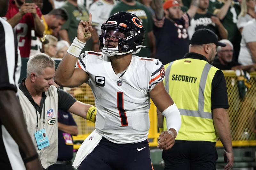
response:
[[[139,53],[145,30],[140,19],[130,12],[117,12],[101,26],[99,47],[107,56]],[[117,47],[109,45],[110,38],[118,39]]]

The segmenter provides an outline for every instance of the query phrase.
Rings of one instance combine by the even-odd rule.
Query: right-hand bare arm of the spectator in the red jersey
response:
[[[42,19],[37,14],[36,6],[34,3],[32,3],[28,8],[29,8],[28,12],[31,12],[34,18],[35,32],[39,37],[42,37],[44,34],[44,23],[42,22]]]

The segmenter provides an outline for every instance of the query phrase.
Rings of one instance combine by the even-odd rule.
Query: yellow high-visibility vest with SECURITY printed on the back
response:
[[[176,139],[216,142],[211,96],[212,79],[219,69],[204,60],[192,58],[176,60],[164,67],[165,89],[181,114],[181,127]]]

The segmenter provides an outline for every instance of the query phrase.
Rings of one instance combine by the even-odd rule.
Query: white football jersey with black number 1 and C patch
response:
[[[80,55],[76,67],[89,74],[97,107],[95,128],[117,144],[147,139],[150,107],[149,92],[164,79],[164,65],[158,59],[132,56],[119,78],[109,57],[93,51]]]

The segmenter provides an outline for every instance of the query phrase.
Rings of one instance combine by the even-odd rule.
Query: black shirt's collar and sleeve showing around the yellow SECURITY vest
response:
[[[205,60],[208,62],[205,56],[197,53],[188,53],[185,55],[184,58],[193,58],[193,59]],[[226,80],[223,72],[220,70],[216,71],[212,79],[211,100],[212,100],[212,109],[215,109],[215,108],[227,109],[229,107]]]

